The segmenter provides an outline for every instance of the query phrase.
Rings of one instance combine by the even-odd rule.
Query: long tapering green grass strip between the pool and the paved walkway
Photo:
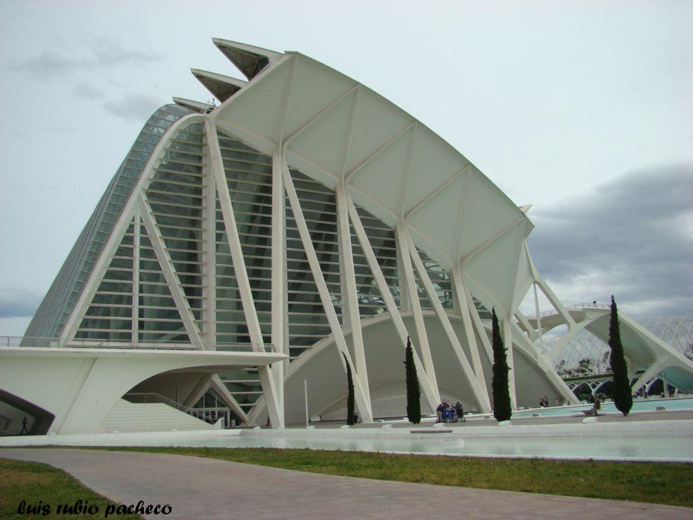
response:
[[[107,448],[123,449],[123,448]],[[693,464],[465,458],[265,448],[127,448],[289,470],[693,507]]]

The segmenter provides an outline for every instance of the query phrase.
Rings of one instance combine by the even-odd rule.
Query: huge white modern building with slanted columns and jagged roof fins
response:
[[[527,250],[528,207],[342,73],[214,45],[246,80],[193,69],[221,104],[174,98],[147,121],[21,344],[0,348],[8,410],[43,414],[36,431],[122,431],[152,426],[133,396],[175,414],[213,398],[282,427],[304,420],[306,381],[309,415],[343,419],[349,363],[360,417],[402,416],[409,336],[423,412],[489,412],[492,307],[513,406],[576,402],[555,358],[583,328],[604,338],[608,310],[555,298]],[[555,313],[520,313],[528,291]],[[564,342],[537,349],[560,324]],[[693,386],[690,359],[622,325],[632,370]]]

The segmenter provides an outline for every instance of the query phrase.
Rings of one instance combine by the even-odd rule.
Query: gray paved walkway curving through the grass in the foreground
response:
[[[170,504],[166,518],[693,519],[685,507],[335,477],[182,455],[0,449],[0,458],[48,463],[118,503]]]

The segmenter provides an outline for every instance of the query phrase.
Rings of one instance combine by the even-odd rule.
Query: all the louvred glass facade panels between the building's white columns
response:
[[[165,106],[147,122],[131,154],[124,162],[99,208],[87,224],[75,250],[84,250],[80,270],[68,258],[64,271],[71,270],[71,280],[59,280],[73,291],[66,299],[65,309],[55,324],[43,323],[39,315],[31,330],[57,335],[66,322],[76,298],[92,272],[103,245],[131,196],[144,165],[161,135],[186,110]],[[241,249],[251,295],[265,343],[271,342],[272,291],[272,158],[242,143],[238,138],[218,132],[226,189],[240,238]],[[228,247],[221,203],[217,192],[214,201],[207,201],[205,187],[213,182],[203,168],[205,136],[199,122],[179,129],[166,144],[166,150],[143,185],[141,196],[147,215],[139,210],[119,237],[115,253],[98,281],[92,301],[80,322],[76,338],[125,343],[175,341],[189,342],[180,309],[170,289],[170,277],[182,291],[186,312],[191,315],[204,338],[220,343],[251,341],[242,307],[235,266]],[[335,193],[298,170],[290,169],[302,217],[305,219],[312,246],[318,257],[330,298],[340,324],[343,320],[342,263],[337,228]],[[218,187],[217,187],[218,188]],[[214,243],[205,244],[205,209],[214,205]],[[296,215],[285,200],[286,222],[286,312],[291,361],[316,342],[331,334],[326,312],[303,247]],[[400,271],[397,260],[395,231],[363,208],[357,212],[377,258],[389,291],[400,306]],[[151,222],[146,225],[145,222]],[[89,231],[89,233],[87,233]],[[359,314],[362,319],[386,312],[384,298],[365,259],[353,226],[350,224],[351,247]],[[87,233],[85,235],[85,233]],[[156,236],[152,236],[154,233]],[[164,257],[157,254],[156,243],[163,246]],[[207,248],[214,259],[214,272],[206,273]],[[444,308],[453,308],[450,276],[438,263],[419,251],[426,271]],[[212,265],[211,263],[209,264]],[[167,275],[168,273],[168,275]],[[205,277],[214,280],[214,287],[205,288]],[[56,281],[56,283],[59,282]],[[423,308],[431,308],[428,296],[418,280]],[[54,284],[55,285],[55,284]],[[213,291],[213,331],[205,331],[205,301]],[[57,291],[51,289],[47,302],[55,308]],[[63,295],[64,296],[64,295]],[[38,326],[38,325],[40,326]],[[58,328],[56,328],[58,327]],[[255,368],[220,374],[221,380],[240,406],[248,412],[261,396],[261,384]]]

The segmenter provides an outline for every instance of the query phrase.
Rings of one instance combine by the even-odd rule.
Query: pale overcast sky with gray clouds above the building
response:
[[[518,205],[567,305],[693,311],[691,1],[19,1],[0,17],[0,335],[21,335],[147,117],[297,50],[448,140]]]

